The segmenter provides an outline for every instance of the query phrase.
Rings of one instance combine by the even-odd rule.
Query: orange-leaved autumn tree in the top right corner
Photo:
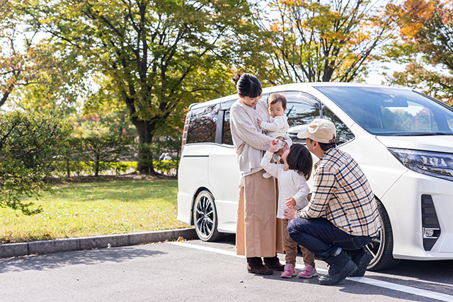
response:
[[[407,0],[390,8],[388,13],[398,16],[400,39],[388,47],[388,55],[406,69],[387,81],[453,105],[452,1]]]

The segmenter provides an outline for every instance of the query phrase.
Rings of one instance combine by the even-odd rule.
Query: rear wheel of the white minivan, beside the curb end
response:
[[[193,223],[198,238],[203,241],[217,241],[223,237],[224,234],[217,231],[219,220],[211,192],[203,190],[197,194],[193,203]]]

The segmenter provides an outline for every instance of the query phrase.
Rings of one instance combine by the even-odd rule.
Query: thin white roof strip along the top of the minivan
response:
[[[277,85],[263,88],[263,93],[272,93],[275,91],[279,91],[280,89],[290,91],[299,91],[299,90],[309,90],[309,88],[313,88],[316,86],[360,86],[360,87],[381,87],[381,88],[401,88],[401,87],[390,87],[390,86],[383,86],[383,85],[376,85],[376,84],[367,84],[367,83],[349,83],[349,82],[311,82],[311,83],[290,83],[284,85]],[[401,88],[411,90],[411,88]],[[223,103],[229,100],[236,100],[238,99],[238,95],[232,94],[228,96],[224,96],[222,98],[216,98],[214,100],[208,100],[202,103],[192,103],[189,105],[189,110],[202,108],[208,105],[215,105],[217,103]]]

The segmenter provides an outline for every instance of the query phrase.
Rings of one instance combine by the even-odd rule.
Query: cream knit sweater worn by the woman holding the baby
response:
[[[239,171],[242,175],[261,170],[263,151],[268,150],[273,140],[263,133],[257,119],[269,120],[268,105],[259,100],[256,108],[242,103],[241,99],[231,105],[230,127],[234,148],[238,154]],[[290,146],[291,139],[286,140]]]

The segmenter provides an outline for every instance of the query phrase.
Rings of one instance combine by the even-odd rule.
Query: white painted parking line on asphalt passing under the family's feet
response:
[[[190,244],[190,243],[185,243],[185,242],[169,242],[169,243],[173,244],[173,245],[180,245],[185,248],[195,248],[197,250],[205,250],[207,252],[217,252],[217,254],[245,258],[244,256],[236,255],[236,252],[229,251],[229,250],[220,250],[218,248],[209,248],[206,246],[200,246],[200,245],[195,245],[195,244]],[[296,265],[296,268],[302,269],[302,265]],[[322,272],[324,274],[327,273],[326,269],[317,269],[317,270],[318,270],[318,272]],[[386,282],[386,281],[379,281],[379,280],[367,278],[367,277],[348,277],[346,279],[348,279],[350,281],[373,285],[373,286],[383,287],[385,289],[392,289],[394,291],[403,291],[404,293],[408,293],[408,294],[414,294],[417,296],[433,298],[433,299],[437,299],[440,301],[449,301],[449,302],[453,301],[453,296],[451,296],[451,295],[440,294],[440,293],[436,293],[435,291],[426,291],[425,289],[417,289],[417,288],[411,287],[411,286],[394,284],[394,283]]]

